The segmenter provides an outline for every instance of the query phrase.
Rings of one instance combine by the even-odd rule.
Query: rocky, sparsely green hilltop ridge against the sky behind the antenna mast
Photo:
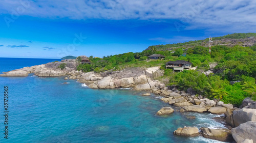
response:
[[[240,45],[249,47],[256,43],[256,33],[234,33],[228,34],[221,37],[213,37],[212,38],[212,45],[225,45],[225,46],[234,46]],[[176,44],[166,44],[166,45],[153,45],[149,46],[145,50],[174,50],[176,48],[193,48],[195,46],[209,46],[209,38],[204,40],[195,40],[195,41],[188,41],[184,43],[176,43]]]

